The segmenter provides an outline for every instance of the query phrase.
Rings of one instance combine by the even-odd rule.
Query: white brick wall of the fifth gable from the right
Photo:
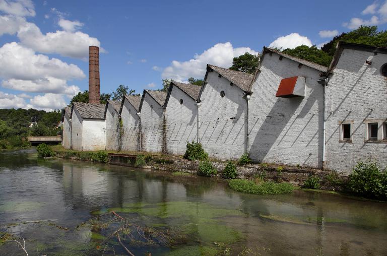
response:
[[[151,109],[153,105],[153,109]],[[141,143],[146,152],[161,152],[164,109],[148,93],[141,108]]]

